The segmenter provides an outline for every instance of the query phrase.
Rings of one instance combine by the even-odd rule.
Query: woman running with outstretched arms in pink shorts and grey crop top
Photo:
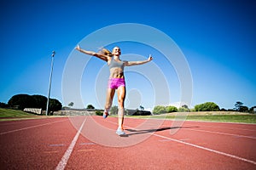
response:
[[[125,66],[131,66],[131,65],[143,65],[145,63],[148,63],[153,58],[151,55],[149,55],[147,60],[143,61],[123,61],[119,58],[121,54],[121,50],[119,47],[114,47],[112,53],[108,51],[108,49],[103,48],[100,53],[96,53],[93,51],[86,51],[78,45],[75,49],[77,49],[79,52],[96,56],[99,59],[102,59],[108,63],[110,76],[108,79],[108,89],[107,89],[107,99],[106,99],[106,105],[105,110],[103,113],[103,118],[108,117],[108,111],[112,105],[113,101],[113,95],[115,94],[115,90],[117,90],[118,94],[118,104],[119,104],[119,111],[118,111],[118,123],[119,127],[116,131],[116,133],[121,136],[125,135],[124,131],[124,105],[125,105],[125,75],[124,75],[124,68]]]

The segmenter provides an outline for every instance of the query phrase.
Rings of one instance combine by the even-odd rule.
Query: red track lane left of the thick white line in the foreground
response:
[[[0,135],[1,169],[55,169],[76,133],[68,118],[50,118],[38,122],[38,126],[34,122],[31,125]]]

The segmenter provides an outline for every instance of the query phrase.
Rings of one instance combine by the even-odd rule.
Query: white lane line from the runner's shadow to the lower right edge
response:
[[[160,138],[162,138],[162,139],[169,139],[169,140],[172,140],[172,141],[177,142],[177,143],[180,143],[180,144],[186,144],[186,145],[193,146],[193,147],[198,148],[198,149],[201,149],[201,150],[207,150],[207,151],[210,151],[210,152],[219,154],[219,155],[228,156],[228,157],[231,157],[231,158],[235,158],[235,159],[237,159],[237,160],[240,160],[240,161],[246,161],[246,162],[248,162],[248,163],[252,163],[252,164],[256,165],[256,161],[247,160],[247,159],[242,158],[242,157],[240,157],[240,156],[234,156],[234,155],[231,155],[231,154],[224,153],[224,152],[222,152],[222,151],[212,150],[212,149],[209,149],[209,148],[206,148],[206,147],[202,147],[202,146],[200,146],[200,145],[190,144],[190,143],[183,142],[183,141],[180,141],[180,140],[177,140],[177,139],[168,138],[168,137],[162,136],[162,135],[160,135],[160,134],[155,134],[155,133],[153,133],[153,135],[154,135],[154,136],[157,136],[157,137],[160,137]]]

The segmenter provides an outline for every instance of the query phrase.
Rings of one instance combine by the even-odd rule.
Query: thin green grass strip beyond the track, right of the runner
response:
[[[128,116],[137,118],[166,118],[174,119],[175,116]],[[183,118],[183,117],[182,117]],[[207,121],[207,122],[244,122],[256,123],[256,115],[211,115],[211,116],[187,116],[187,121]]]

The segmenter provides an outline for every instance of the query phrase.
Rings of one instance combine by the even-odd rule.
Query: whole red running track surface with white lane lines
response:
[[[256,169],[256,124],[74,116],[0,122],[0,169]]]

